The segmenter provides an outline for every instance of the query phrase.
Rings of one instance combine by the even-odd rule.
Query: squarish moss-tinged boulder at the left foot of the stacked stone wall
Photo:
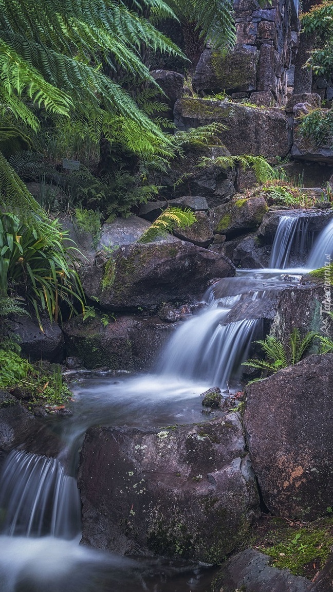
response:
[[[257,28],[257,23],[252,28]],[[200,91],[254,91],[258,51],[236,46],[231,53],[205,49],[193,76],[193,89]]]

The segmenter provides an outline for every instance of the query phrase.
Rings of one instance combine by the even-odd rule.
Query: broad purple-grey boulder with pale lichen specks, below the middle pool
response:
[[[161,431],[88,430],[79,468],[84,542],[209,563],[232,552],[258,496],[239,416],[222,417]]]

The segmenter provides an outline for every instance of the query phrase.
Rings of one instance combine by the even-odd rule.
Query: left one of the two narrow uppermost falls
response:
[[[309,218],[304,215],[280,217],[271,252],[269,265],[271,269],[286,269],[288,267],[292,247],[296,250],[297,255],[305,255],[309,239],[308,221]]]

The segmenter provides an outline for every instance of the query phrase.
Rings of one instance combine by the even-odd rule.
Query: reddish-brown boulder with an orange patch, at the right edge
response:
[[[268,509],[315,519],[333,495],[333,354],[312,355],[246,388],[245,429]]]

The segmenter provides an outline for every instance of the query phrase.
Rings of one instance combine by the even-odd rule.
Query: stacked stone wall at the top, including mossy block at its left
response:
[[[228,56],[204,50],[193,78],[196,92],[224,90],[233,99],[284,105],[292,92],[298,44],[297,0],[235,0],[237,44]],[[260,93],[260,95],[257,95]]]

